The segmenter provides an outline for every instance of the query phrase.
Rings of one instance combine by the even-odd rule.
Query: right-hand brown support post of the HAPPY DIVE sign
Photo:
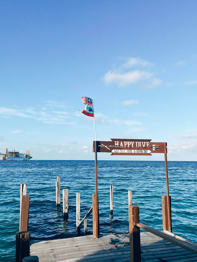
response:
[[[165,143],[165,170],[166,170],[166,189],[167,196],[162,196],[162,216],[163,216],[163,230],[172,232],[171,219],[171,197],[169,193],[168,169],[167,169],[167,143]]]

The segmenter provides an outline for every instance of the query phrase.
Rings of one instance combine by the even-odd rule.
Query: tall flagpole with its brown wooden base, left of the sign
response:
[[[94,106],[93,106],[93,100],[92,100],[92,107],[93,107],[93,118],[94,118]],[[94,132],[95,132],[95,223],[93,226],[95,226],[94,232],[95,232],[95,238],[98,238],[99,234],[99,218],[98,218],[98,172],[97,172],[97,148],[96,148],[96,127],[95,127],[95,119],[94,119]]]

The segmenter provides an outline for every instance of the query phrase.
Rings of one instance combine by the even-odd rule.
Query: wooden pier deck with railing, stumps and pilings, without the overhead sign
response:
[[[57,178],[59,180],[59,177]],[[56,204],[60,205],[60,182],[56,183]],[[29,201],[26,184],[20,185],[20,231],[16,234],[16,262],[31,261],[36,256],[39,262],[74,261],[130,261],[130,262],[197,262],[197,244],[171,232],[169,217],[164,212],[167,201],[162,197],[163,230],[151,228],[139,221],[139,207],[132,205],[132,192],[128,191],[129,233],[99,236],[96,230],[96,194],[92,194],[92,207],[80,218],[80,193],[76,194],[76,232],[84,225],[83,237],[72,237],[34,243],[30,246],[28,230]],[[110,186],[110,213],[113,213],[113,187]],[[63,216],[68,217],[68,190],[64,190]],[[59,201],[58,201],[59,199]],[[170,199],[169,199],[170,200]],[[170,205],[170,202],[169,202]],[[93,213],[93,235],[87,234],[87,218]],[[146,232],[140,232],[140,229]],[[168,230],[166,230],[168,229]],[[30,257],[29,257],[30,256]]]

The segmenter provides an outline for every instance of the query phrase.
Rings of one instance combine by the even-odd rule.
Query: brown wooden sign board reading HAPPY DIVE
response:
[[[95,152],[93,141],[93,152]],[[111,141],[96,141],[96,151],[111,153],[111,155],[152,155],[165,153],[164,142],[151,142],[151,139],[112,139]]]

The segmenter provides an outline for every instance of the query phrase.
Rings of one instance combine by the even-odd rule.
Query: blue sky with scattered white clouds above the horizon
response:
[[[97,140],[167,142],[197,159],[196,1],[3,1],[0,152],[94,159]],[[111,156],[106,160],[164,160]]]

